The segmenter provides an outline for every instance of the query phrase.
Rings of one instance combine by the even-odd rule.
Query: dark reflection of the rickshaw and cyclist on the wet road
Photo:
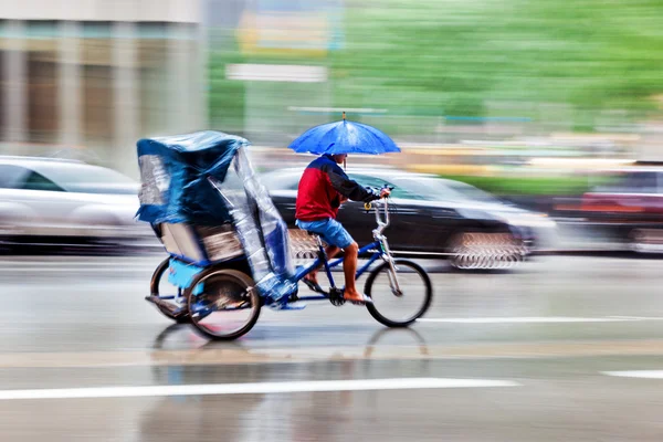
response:
[[[181,351],[182,345],[189,350]],[[419,360],[381,360],[382,350],[394,346],[415,347]],[[288,364],[284,354],[276,364],[210,365],[208,354],[222,357],[225,352],[233,358],[244,355],[245,360],[253,360],[260,350],[241,341],[198,339],[187,325],[173,324],[155,338],[156,365],[151,370],[155,385],[368,379],[393,377],[394,373],[399,377],[430,376],[429,347],[414,329],[382,328],[357,347],[357,359],[345,358],[332,350],[326,358],[315,358],[308,364]],[[180,355],[181,365],[173,365],[175,351]],[[379,396],[379,391],[332,391],[164,398],[143,413],[140,440],[180,441],[186,436],[200,441],[212,434],[223,441],[335,439],[347,432],[348,424],[377,422]],[[312,414],[314,410],[315,414]]]

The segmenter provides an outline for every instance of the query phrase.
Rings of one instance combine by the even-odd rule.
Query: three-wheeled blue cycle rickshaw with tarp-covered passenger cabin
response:
[[[288,229],[249,160],[250,143],[220,131],[146,138],[137,144],[141,175],[138,218],[149,222],[168,257],[156,269],[146,299],[178,323],[190,323],[203,336],[235,339],[257,322],[263,306],[299,309],[305,301],[345,304],[323,242],[315,261],[293,264]],[[375,241],[360,249],[368,261],[365,293],[370,315],[389,327],[406,327],[430,306],[432,285],[418,264],[393,259],[383,234],[389,203],[375,211]],[[377,264],[377,265],[375,265]],[[303,295],[298,282],[324,267],[329,290]],[[164,293],[161,283],[171,285]]]

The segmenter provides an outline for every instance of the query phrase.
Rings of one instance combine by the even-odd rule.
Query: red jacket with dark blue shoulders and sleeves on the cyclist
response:
[[[349,179],[332,156],[323,155],[308,165],[299,180],[295,218],[302,221],[336,219],[341,196],[365,202],[380,198]]]

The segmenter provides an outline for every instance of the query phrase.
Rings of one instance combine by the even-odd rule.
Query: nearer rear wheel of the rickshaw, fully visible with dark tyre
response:
[[[199,284],[202,290],[194,293]],[[251,330],[262,305],[253,280],[228,269],[201,272],[185,296],[191,324],[203,336],[220,340],[236,339]]]

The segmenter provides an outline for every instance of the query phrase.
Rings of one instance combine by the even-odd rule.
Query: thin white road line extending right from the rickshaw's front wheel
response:
[[[448,324],[559,324],[559,323],[632,323],[643,320],[663,320],[656,316],[516,316],[516,317],[469,317],[469,318],[421,318],[421,323]]]

